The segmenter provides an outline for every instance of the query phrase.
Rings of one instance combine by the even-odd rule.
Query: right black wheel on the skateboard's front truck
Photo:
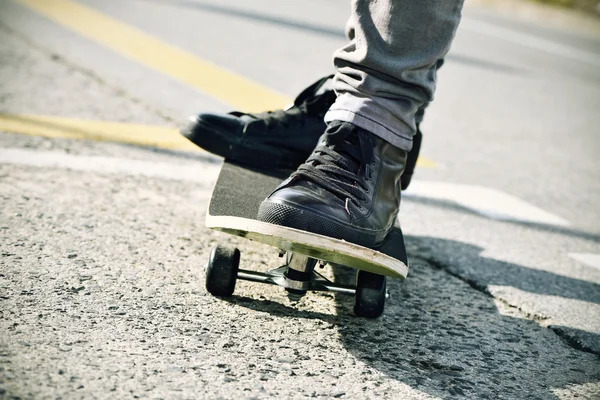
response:
[[[386,297],[385,288],[385,276],[367,271],[358,271],[354,314],[365,318],[377,318],[383,314]]]

